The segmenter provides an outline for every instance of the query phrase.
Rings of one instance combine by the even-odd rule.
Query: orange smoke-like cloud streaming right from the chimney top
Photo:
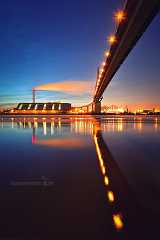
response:
[[[62,82],[47,83],[34,87],[35,90],[56,91],[71,95],[77,94],[92,94],[94,88],[94,81],[80,81],[80,80],[66,80]]]

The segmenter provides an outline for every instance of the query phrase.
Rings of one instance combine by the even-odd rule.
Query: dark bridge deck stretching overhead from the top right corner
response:
[[[110,48],[94,101],[99,100],[113,76],[133,49],[148,25],[159,12],[160,0],[128,0],[124,12],[126,19],[119,24],[115,37],[117,42]]]

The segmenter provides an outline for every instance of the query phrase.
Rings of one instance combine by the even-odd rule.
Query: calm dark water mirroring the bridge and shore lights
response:
[[[160,119],[0,118],[0,239],[160,239]]]

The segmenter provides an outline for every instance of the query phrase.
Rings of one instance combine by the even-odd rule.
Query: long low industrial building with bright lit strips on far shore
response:
[[[66,113],[71,110],[70,103],[49,102],[49,103],[19,103],[14,113],[17,114],[41,114],[41,113]]]

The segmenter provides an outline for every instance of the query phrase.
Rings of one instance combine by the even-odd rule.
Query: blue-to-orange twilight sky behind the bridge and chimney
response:
[[[31,101],[31,89],[75,81],[73,91],[39,92],[39,101],[87,103],[113,12],[123,0],[5,0],[0,7],[0,103]],[[104,103],[160,103],[160,16],[157,16],[104,93]],[[79,82],[86,90],[80,91]],[[77,85],[76,85],[77,84]],[[87,87],[88,86],[88,87]],[[78,90],[78,91],[77,91]]]

